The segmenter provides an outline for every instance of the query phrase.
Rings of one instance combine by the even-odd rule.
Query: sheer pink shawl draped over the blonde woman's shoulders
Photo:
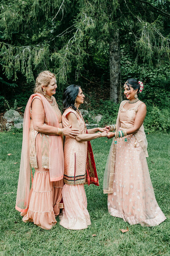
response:
[[[20,175],[17,188],[15,208],[20,212],[28,210],[28,196],[30,191],[30,162],[29,162],[29,131],[30,106],[34,96],[39,96],[45,110],[48,125],[59,127],[58,117],[50,103],[40,93],[32,94],[26,105],[23,120],[23,145],[20,162]],[[49,172],[50,181],[61,180],[64,175],[64,154],[61,136],[49,135]]]

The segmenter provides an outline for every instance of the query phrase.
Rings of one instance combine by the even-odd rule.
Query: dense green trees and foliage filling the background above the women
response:
[[[24,111],[35,77],[48,69],[56,73],[56,97],[61,108],[64,87],[76,82],[86,93],[87,103],[83,108],[103,113],[102,122],[110,120],[117,109],[109,102],[111,88],[116,86],[113,59],[121,71],[118,85],[122,87],[130,77],[143,81],[140,99],[147,104],[148,113],[159,108],[161,114],[167,115],[169,0],[2,0],[1,3],[2,111],[7,108],[5,99],[11,107],[17,100]],[[117,44],[116,55],[111,51],[113,42]]]

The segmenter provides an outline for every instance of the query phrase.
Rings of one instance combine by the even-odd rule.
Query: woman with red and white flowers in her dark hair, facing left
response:
[[[104,175],[108,211],[129,224],[156,226],[166,219],[156,202],[147,166],[147,140],[143,121],[146,105],[138,93],[143,83],[128,79],[124,84],[127,100],[120,104],[116,125],[108,125],[114,138]],[[122,139],[121,139],[122,137]]]

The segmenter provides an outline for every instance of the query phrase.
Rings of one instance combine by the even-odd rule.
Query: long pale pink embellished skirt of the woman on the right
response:
[[[108,194],[108,211],[129,224],[156,226],[166,219],[156,201],[147,160],[135,136],[117,140],[113,194]]]

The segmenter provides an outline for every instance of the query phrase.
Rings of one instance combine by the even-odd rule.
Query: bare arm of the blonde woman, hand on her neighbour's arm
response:
[[[44,119],[45,111],[43,104],[40,99],[34,99],[32,102],[32,122],[34,130],[48,135],[58,134],[58,128],[51,125],[45,125]],[[71,129],[70,127],[63,128],[64,135],[71,136],[70,134],[72,133],[72,135],[76,136],[77,134],[79,134],[79,131],[77,129]]]

